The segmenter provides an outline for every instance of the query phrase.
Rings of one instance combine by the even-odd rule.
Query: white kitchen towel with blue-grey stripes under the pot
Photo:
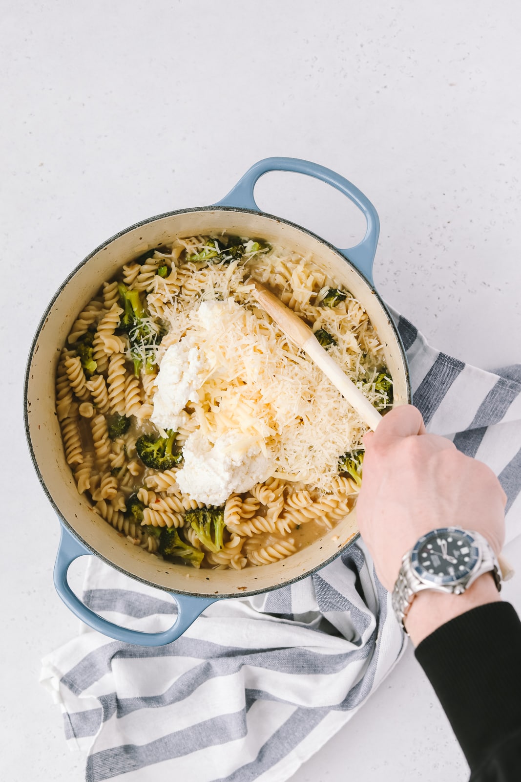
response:
[[[487,372],[427,345],[393,313],[414,402],[430,432],[490,465],[521,531],[521,366]],[[173,602],[91,557],[84,601],[136,628],[166,630]],[[359,540],[291,587],[219,601],[166,647],[82,626],[43,664],[86,779],[283,782],[343,726],[400,657],[404,640]]]

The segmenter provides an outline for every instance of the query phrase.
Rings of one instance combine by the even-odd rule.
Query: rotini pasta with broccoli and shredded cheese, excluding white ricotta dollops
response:
[[[309,258],[225,235],[179,238],[125,264],[77,316],[56,373],[56,413],[78,492],[134,545],[207,569],[290,557],[348,515],[361,482],[365,425],[259,310],[248,274],[312,325],[377,409],[392,404],[382,346],[359,301]],[[205,346],[200,335],[198,350],[213,361],[208,377],[177,411],[175,431],[162,429],[150,420],[159,420],[162,360],[194,329],[202,302],[227,315],[226,339]],[[241,354],[247,329],[253,337],[230,374],[227,350]],[[280,372],[270,351],[283,357]],[[275,378],[281,385],[270,396]],[[319,426],[324,409],[333,412]],[[242,489],[203,502],[181,480],[187,448],[228,431],[259,443],[271,474],[248,490],[243,475]]]

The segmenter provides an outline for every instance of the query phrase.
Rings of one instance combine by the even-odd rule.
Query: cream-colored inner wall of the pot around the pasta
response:
[[[188,569],[171,565],[133,546],[92,510],[77,493],[62,449],[55,414],[55,371],[60,350],[73,321],[104,280],[123,264],[177,236],[220,233],[266,239],[302,255],[312,253],[337,285],[350,290],[366,307],[394,380],[394,404],[408,402],[408,376],[398,339],[384,307],[369,284],[350,264],[319,239],[293,225],[252,213],[232,210],[197,210],[160,217],[116,237],[81,266],[63,287],[48,313],[29,370],[27,413],[30,442],[41,479],[63,519],[81,540],[105,561],[128,575],[162,589],[205,595],[238,596],[278,587],[305,575],[334,557],[357,533],[355,511],[332,531],[287,560],[260,568],[234,570]]]

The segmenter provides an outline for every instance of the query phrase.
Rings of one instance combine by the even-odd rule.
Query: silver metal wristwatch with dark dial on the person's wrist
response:
[[[498,558],[483,535],[459,527],[433,529],[420,537],[401,560],[392,593],[398,622],[405,630],[405,617],[418,592],[432,589],[462,594],[479,576],[489,571],[501,590]]]

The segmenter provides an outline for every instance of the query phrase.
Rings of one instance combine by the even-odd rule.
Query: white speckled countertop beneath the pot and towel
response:
[[[5,2],[2,9],[0,777],[83,780],[40,659],[77,632],[52,586],[58,522],[22,424],[23,367],[59,284],[110,235],[213,203],[266,156],[330,167],[380,214],[376,286],[434,346],[521,361],[514,2]],[[339,193],[266,176],[259,206],[338,246],[363,221]],[[521,572],[521,540],[505,551]],[[505,587],[521,611],[521,579]],[[294,782],[466,780],[412,651]]]

